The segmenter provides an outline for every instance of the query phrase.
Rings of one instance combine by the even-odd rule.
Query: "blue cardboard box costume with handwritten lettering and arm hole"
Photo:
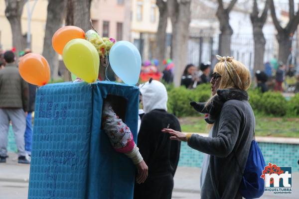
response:
[[[135,167],[101,130],[103,100],[124,97],[137,143],[139,89],[111,82],[60,83],[36,95],[28,199],[132,199]]]

